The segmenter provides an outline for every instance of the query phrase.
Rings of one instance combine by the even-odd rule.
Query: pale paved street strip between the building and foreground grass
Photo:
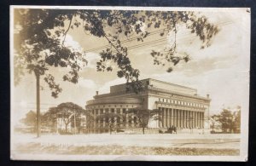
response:
[[[14,135],[14,145],[40,143],[43,146],[160,146],[239,149],[240,135]],[[14,146],[15,147],[15,146]]]

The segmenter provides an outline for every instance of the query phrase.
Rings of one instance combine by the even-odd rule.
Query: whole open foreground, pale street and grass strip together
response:
[[[219,155],[238,156],[240,135],[236,134],[90,134],[14,135],[13,154],[80,155]]]

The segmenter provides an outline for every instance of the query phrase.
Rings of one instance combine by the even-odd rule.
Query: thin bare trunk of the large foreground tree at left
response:
[[[37,137],[41,136],[41,117],[40,117],[40,75],[35,72],[37,79]]]

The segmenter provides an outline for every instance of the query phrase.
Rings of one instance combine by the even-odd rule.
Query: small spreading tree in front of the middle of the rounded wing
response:
[[[120,113],[114,113],[114,112],[105,112],[102,114],[99,114],[96,117],[96,120],[100,122],[105,122],[106,125],[108,126],[109,134],[112,134],[113,128],[116,127],[117,125],[125,122],[121,122],[120,119],[124,119],[125,114],[120,114]]]

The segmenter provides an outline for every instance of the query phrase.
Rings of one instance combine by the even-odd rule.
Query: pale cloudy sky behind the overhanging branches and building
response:
[[[210,94],[210,114],[218,113],[224,107],[241,106],[248,110],[249,86],[249,17],[246,9],[204,10],[212,24],[218,25],[220,31],[213,38],[209,48],[201,49],[201,42],[195,35],[189,34],[183,26],[178,27],[177,50],[180,54],[186,52],[191,60],[180,62],[173,72],[166,72],[166,66],[154,66],[150,55],[152,49],[162,50],[172,42],[172,34],[166,36],[166,43],[151,44],[128,51],[133,67],[140,70],[140,78],[154,78],[169,83],[197,89],[198,95]],[[154,30],[155,31],[155,30]],[[159,39],[159,34],[148,37],[148,41]],[[98,48],[107,44],[103,38],[92,37],[80,29],[69,31],[66,42],[74,49],[83,51]],[[127,43],[127,46],[137,45],[137,42]],[[157,46],[156,46],[157,45]],[[11,54],[12,56],[12,54]],[[74,102],[85,106],[87,100],[93,99],[96,91],[108,93],[109,87],[125,83],[124,78],[118,78],[116,67],[113,72],[96,72],[96,61],[100,59],[99,51],[86,52],[88,65],[79,72],[79,83],[61,81],[61,75],[67,69],[50,69],[57,83],[61,84],[62,92],[57,99],[50,96],[50,90],[41,80],[41,110],[45,112],[50,106],[62,102]],[[24,117],[26,112],[36,110],[36,82],[33,75],[26,74],[18,86],[13,86],[12,111],[13,119]]]

